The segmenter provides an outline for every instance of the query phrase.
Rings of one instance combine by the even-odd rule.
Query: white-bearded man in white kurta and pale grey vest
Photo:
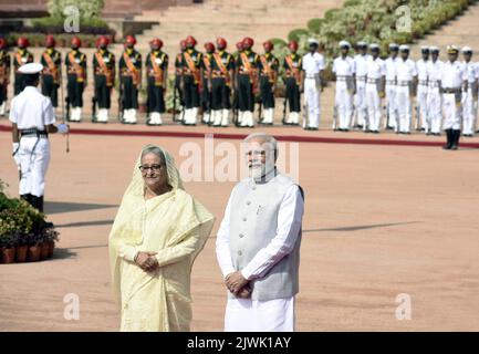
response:
[[[303,194],[275,166],[275,140],[244,139],[250,177],[238,183],[218,230],[218,263],[229,290],[225,331],[294,331]]]

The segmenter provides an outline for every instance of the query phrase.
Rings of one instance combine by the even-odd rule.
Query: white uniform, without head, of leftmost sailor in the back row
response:
[[[320,126],[321,116],[321,87],[320,83],[316,82],[320,72],[324,70],[324,56],[320,53],[308,53],[303,56],[303,70],[304,70],[304,104],[308,107],[306,114],[308,127],[317,128]],[[303,123],[304,125],[304,123]]]

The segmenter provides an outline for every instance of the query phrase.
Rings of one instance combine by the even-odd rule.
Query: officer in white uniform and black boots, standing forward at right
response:
[[[440,77],[444,113],[442,128],[447,136],[447,143],[444,148],[456,150],[459,145],[461,128],[461,94],[462,88],[467,91],[467,75],[464,64],[457,60],[459,48],[448,45],[447,54],[448,61],[444,64]]]

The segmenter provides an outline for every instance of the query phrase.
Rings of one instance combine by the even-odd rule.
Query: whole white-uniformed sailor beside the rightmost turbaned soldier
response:
[[[302,88],[304,90],[303,128],[306,131],[317,131],[320,127],[321,115],[321,91],[322,73],[324,70],[324,56],[317,53],[319,42],[309,39],[310,52],[303,56]]]

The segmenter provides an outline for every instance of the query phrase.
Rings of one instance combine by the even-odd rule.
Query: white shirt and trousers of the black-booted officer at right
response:
[[[465,66],[459,61],[451,63],[447,61],[442,65],[440,84],[442,90],[456,90],[459,92],[459,100],[455,93],[442,93],[444,129],[460,131],[461,128],[461,87],[467,81]]]

